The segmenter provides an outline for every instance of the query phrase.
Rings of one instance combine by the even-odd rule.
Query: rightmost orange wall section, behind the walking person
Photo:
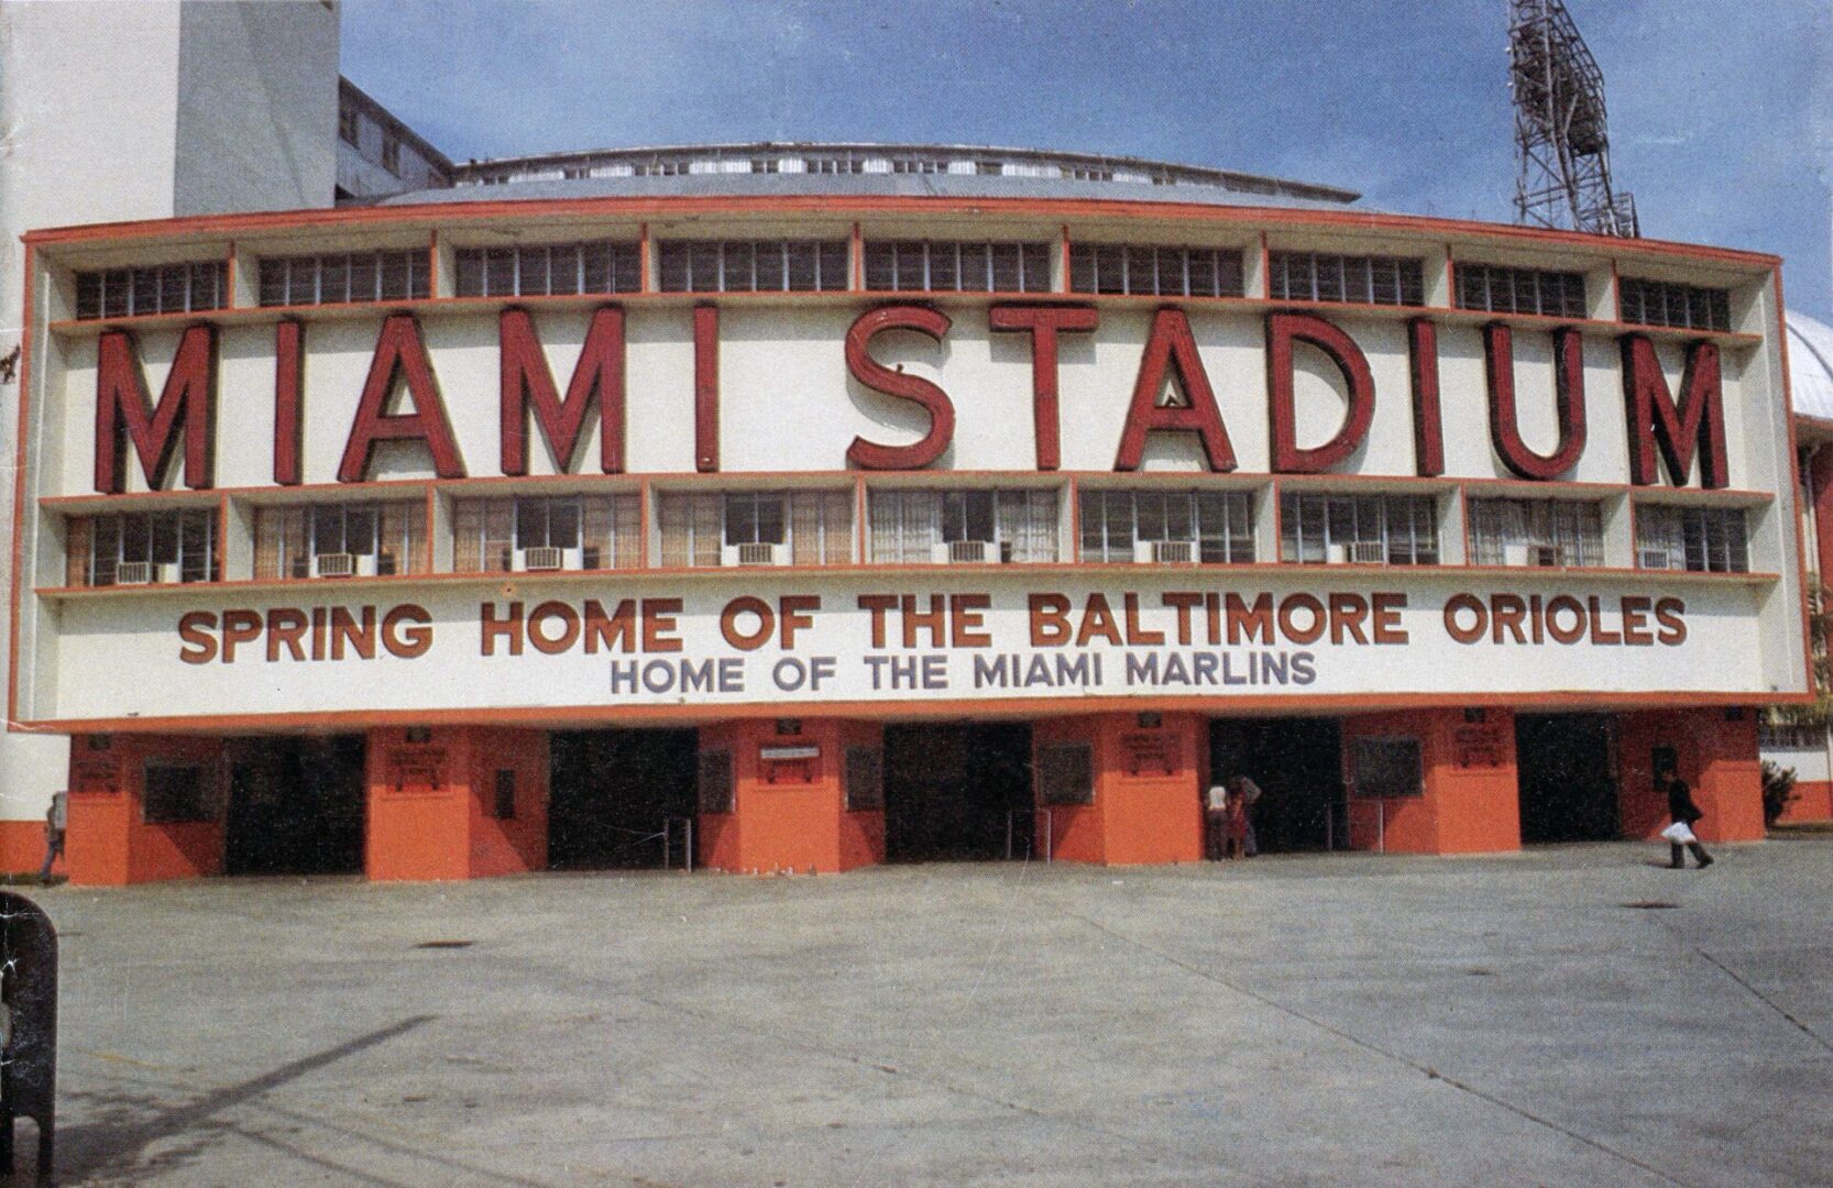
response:
[[[1655,786],[1655,752],[1674,748],[1681,779],[1705,812],[1703,842],[1763,840],[1763,768],[1752,710],[1644,710],[1617,717],[1622,836],[1668,827],[1668,794]]]

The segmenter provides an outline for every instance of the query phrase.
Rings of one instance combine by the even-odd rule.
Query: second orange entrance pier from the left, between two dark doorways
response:
[[[493,814],[513,772],[515,816]],[[451,726],[411,742],[372,730],[365,871],[378,882],[521,874],[548,864],[548,735]]]

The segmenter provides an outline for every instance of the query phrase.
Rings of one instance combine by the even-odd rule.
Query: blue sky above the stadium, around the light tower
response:
[[[1642,231],[1833,317],[1833,0],[1569,0]],[[1118,152],[1512,218],[1503,0],[346,0],[343,72],[455,160],[744,139]]]

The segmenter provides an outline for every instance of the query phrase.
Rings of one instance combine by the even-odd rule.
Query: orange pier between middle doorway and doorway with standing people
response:
[[[1045,803],[1050,856],[1059,862],[1144,865],[1202,860],[1202,799],[1208,732],[1193,713],[1103,713],[1048,719],[1032,728],[1032,763],[1052,750],[1085,748],[1091,803]]]

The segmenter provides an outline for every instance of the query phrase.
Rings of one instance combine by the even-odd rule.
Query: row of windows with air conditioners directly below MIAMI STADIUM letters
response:
[[[1081,491],[1076,556],[1087,563],[1246,565],[1256,552],[1252,491]],[[876,565],[1054,563],[1061,493],[1026,490],[871,490],[865,557]],[[1472,565],[1602,566],[1595,500],[1472,499]],[[664,491],[651,557],[636,493],[458,499],[451,572],[851,565],[854,499],[845,490]],[[1635,566],[1747,572],[1741,508],[1644,506]],[[257,508],[253,578],[359,578],[431,568],[425,500]],[[66,524],[66,585],[220,581],[209,510],[121,512]],[[1279,561],[1439,565],[1439,502],[1430,495],[1279,495]]]

